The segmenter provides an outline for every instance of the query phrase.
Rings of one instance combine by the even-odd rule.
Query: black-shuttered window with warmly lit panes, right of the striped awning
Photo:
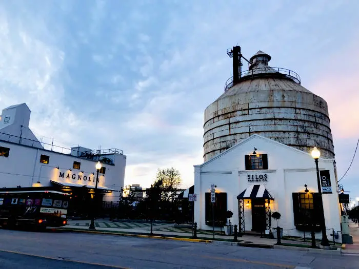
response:
[[[321,197],[318,193],[293,193],[294,225],[297,230],[321,229]]]

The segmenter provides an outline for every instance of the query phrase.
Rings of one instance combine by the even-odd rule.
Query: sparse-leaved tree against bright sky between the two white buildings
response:
[[[181,175],[179,171],[172,168],[158,169],[155,184],[158,184],[162,190],[161,198],[164,201],[174,200],[176,190],[181,184]]]

